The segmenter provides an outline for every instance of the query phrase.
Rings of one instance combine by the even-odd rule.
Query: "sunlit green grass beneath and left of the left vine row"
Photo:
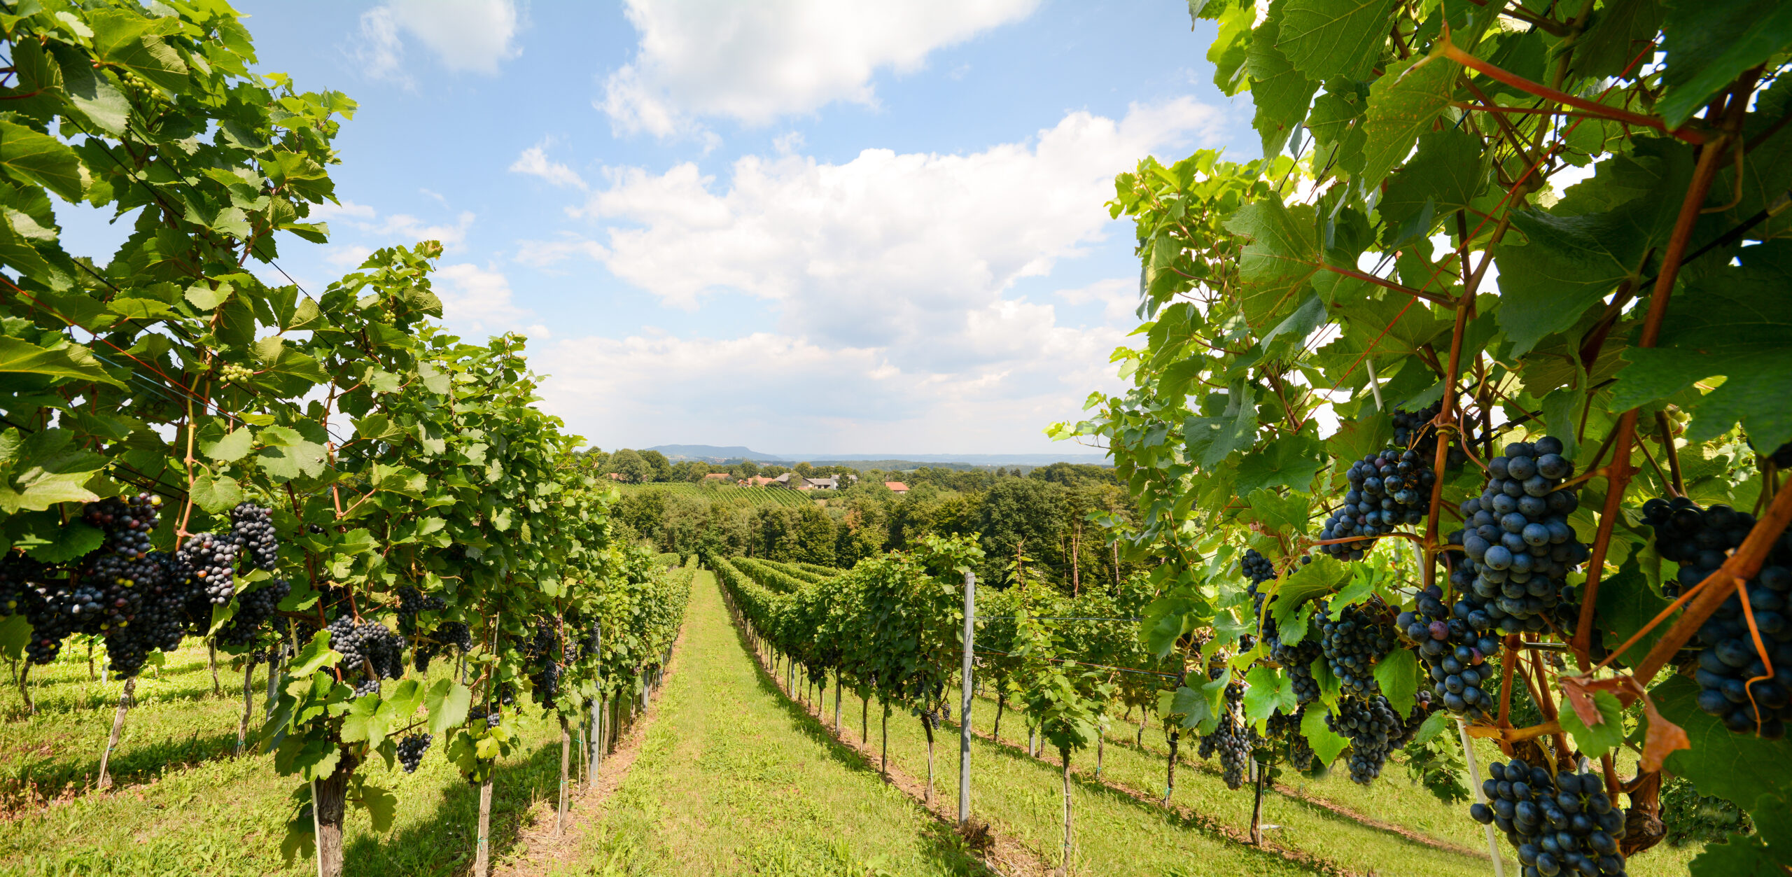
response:
[[[444,676],[452,664],[437,660],[432,671]],[[297,782],[274,773],[272,757],[229,759],[242,671],[220,667],[219,676],[224,694],[213,696],[197,640],[168,655],[159,680],[143,673],[113,757],[118,786],[111,793],[95,793],[91,784],[122,683],[90,682],[82,647],[32,667],[38,716],[27,717],[18,689],[7,685],[0,694],[0,795],[9,811],[23,809],[0,821],[0,877],[315,873],[312,859],[285,864],[280,855]],[[254,682],[260,708],[265,673]],[[514,848],[527,811],[556,795],[559,782],[559,725],[530,708],[516,726],[523,746],[504,760],[493,795],[496,857]],[[391,834],[373,834],[366,812],[349,811],[348,873],[464,870],[478,789],[461,780],[437,748],[414,775],[383,762],[366,775],[398,795],[398,818]],[[29,803],[38,795],[63,800]]]

